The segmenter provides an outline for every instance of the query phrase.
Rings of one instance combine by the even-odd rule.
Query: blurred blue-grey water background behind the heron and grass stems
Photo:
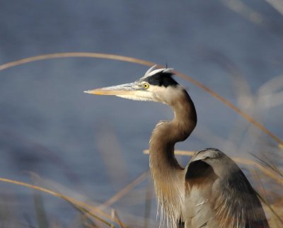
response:
[[[281,0],[2,0],[0,31],[0,64],[56,52],[102,52],[167,63],[283,139]],[[151,130],[158,120],[173,117],[171,109],[83,93],[134,81],[147,69],[71,57],[2,70],[0,177],[43,186],[93,206],[108,202],[105,212],[113,214],[114,208],[129,227],[158,227],[151,178],[147,173],[136,178],[149,170],[143,150]],[[176,148],[216,147],[229,156],[264,161],[267,169],[275,167],[270,172],[278,178],[273,179],[253,165],[238,163],[275,212],[282,213],[283,151],[278,143],[209,93],[176,80],[189,91],[198,115],[191,137]],[[188,159],[178,156],[184,166]],[[134,180],[131,190],[109,203]],[[270,220],[276,217],[266,211]],[[107,227],[87,220],[64,200],[3,182],[0,224]]]

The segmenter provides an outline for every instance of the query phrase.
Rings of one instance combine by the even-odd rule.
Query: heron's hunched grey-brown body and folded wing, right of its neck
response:
[[[217,149],[192,157],[185,175],[185,227],[267,228],[260,200],[236,163]]]

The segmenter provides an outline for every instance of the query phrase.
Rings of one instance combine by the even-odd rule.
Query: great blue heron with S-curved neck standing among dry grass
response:
[[[86,93],[157,101],[173,109],[173,120],[158,122],[149,141],[151,175],[168,227],[269,227],[255,190],[229,156],[209,148],[192,156],[185,169],[178,164],[175,143],[190,136],[197,113],[187,91],[172,76],[173,69],[151,67],[137,81]],[[162,220],[161,214],[161,225]]]

